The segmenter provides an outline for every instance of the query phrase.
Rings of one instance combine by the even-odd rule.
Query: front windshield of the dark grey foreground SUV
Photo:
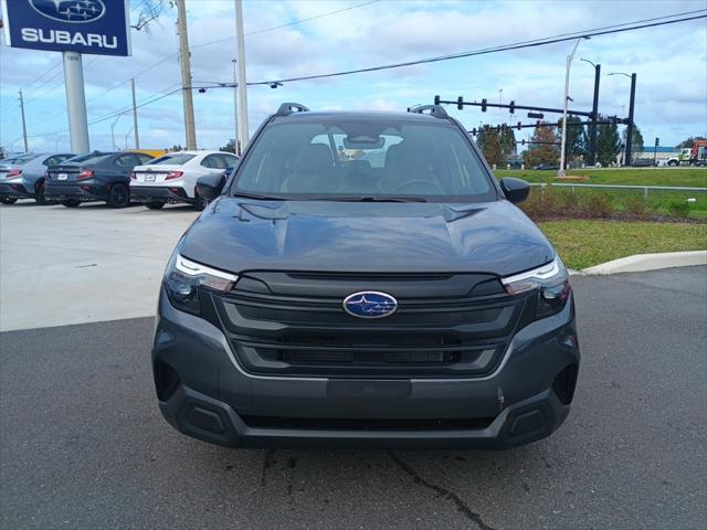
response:
[[[279,199],[495,200],[490,177],[449,123],[381,118],[268,125],[232,193]]]

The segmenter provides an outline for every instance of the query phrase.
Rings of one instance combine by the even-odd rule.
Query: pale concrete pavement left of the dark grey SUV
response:
[[[0,331],[152,316],[167,259],[196,216],[189,205],[0,206]]]

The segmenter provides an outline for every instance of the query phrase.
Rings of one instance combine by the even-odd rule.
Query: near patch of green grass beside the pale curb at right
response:
[[[707,224],[571,220],[538,226],[576,269],[634,254],[707,250]]]

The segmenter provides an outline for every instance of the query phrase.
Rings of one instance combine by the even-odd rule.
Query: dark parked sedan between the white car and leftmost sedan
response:
[[[130,171],[154,157],[144,152],[99,152],[75,157],[46,170],[44,195],[67,208],[105,201],[112,208],[130,203]]]

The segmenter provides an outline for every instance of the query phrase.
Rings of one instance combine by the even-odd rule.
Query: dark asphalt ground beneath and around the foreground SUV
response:
[[[220,448],[161,418],[151,318],[1,333],[0,527],[706,528],[707,267],[573,283],[573,410],[503,453]]]

